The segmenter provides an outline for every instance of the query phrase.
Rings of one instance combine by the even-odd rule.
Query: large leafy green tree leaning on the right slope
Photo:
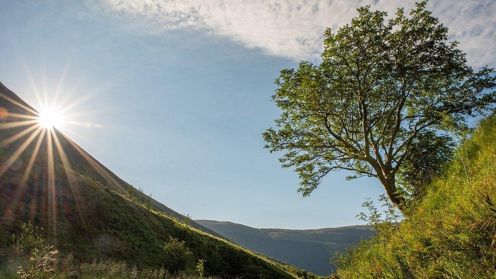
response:
[[[390,19],[359,8],[351,23],[326,30],[320,65],[281,71],[272,100],[282,114],[263,136],[271,152],[284,152],[283,167],[295,168],[304,196],[329,172],[349,170],[349,178],[377,177],[401,210],[395,175],[415,142],[447,117],[465,121],[493,106],[494,70],[468,66],[425,6]]]

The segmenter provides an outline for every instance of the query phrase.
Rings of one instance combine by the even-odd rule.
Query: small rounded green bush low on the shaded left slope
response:
[[[184,241],[169,236],[164,243],[164,266],[171,272],[184,270],[192,255]]]

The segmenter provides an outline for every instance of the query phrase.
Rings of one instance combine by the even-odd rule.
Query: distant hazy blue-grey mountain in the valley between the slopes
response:
[[[315,230],[256,229],[232,222],[195,220],[196,223],[233,238],[247,249],[325,276],[334,269],[329,258],[374,233],[370,226]]]

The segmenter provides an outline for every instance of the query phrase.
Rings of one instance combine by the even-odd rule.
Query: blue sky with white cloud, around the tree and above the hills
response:
[[[36,90],[78,102],[66,113],[84,125],[66,134],[194,219],[259,228],[359,224],[364,198],[383,193],[378,181],[331,173],[302,198],[297,175],[263,149],[261,134],[280,113],[270,101],[278,72],[300,59],[318,63],[323,28],[367,3],[5,2],[0,81],[35,107]],[[429,5],[469,63],[494,65],[494,2]]]

